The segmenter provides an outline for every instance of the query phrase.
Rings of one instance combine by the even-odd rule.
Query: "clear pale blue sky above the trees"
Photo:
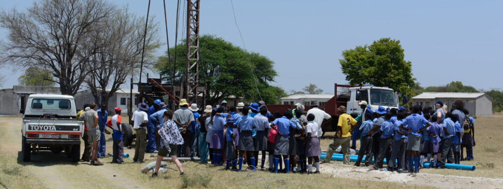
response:
[[[0,0],[4,10],[25,10],[33,1]],[[148,1],[129,4],[146,15]],[[175,41],[177,1],[166,1],[170,45]],[[476,89],[503,88],[503,1],[234,1],[246,50],[269,57],[278,77],[273,85],[286,91],[309,83],[333,93],[344,84],[341,52],[384,37],[400,40],[413,77],[422,86],[462,81]],[[151,15],[160,23],[165,42],[162,1],[153,0]],[[201,1],[200,33],[242,47],[230,1]],[[180,26],[180,30],[182,25]],[[0,39],[6,40],[0,29]],[[182,32],[179,32],[182,37]],[[166,50],[163,46],[158,54]],[[9,68],[3,88],[17,84],[21,71]]]

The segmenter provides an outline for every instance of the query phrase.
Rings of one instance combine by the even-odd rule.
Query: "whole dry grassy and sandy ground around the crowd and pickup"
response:
[[[131,155],[126,164],[111,164],[111,157],[101,159],[103,166],[91,166],[89,162],[72,163],[64,153],[40,151],[32,155],[32,161],[21,160],[20,116],[0,116],[0,186],[4,188],[177,188],[177,187],[253,187],[253,188],[300,188],[300,187],[412,187],[412,188],[503,188],[503,167],[499,154],[503,152],[503,116],[476,119],[474,161],[462,164],[477,166],[475,171],[452,169],[422,169],[416,176],[395,172],[370,170],[334,162],[321,165],[322,174],[272,174],[267,171],[233,172],[221,167],[184,162],[189,175],[181,179],[178,170],[169,169],[159,179],[149,179],[140,172],[146,163],[132,163],[133,149],[125,149]],[[327,133],[329,136],[330,133]],[[107,135],[110,137],[110,135]],[[321,141],[325,150],[330,137]],[[112,152],[112,142],[107,142],[107,153]],[[83,146],[81,146],[83,149]],[[146,162],[154,161],[150,154]],[[175,168],[173,163],[169,167]],[[268,165],[266,164],[266,167]],[[244,166],[246,167],[246,166]],[[307,182],[306,182],[307,181]]]

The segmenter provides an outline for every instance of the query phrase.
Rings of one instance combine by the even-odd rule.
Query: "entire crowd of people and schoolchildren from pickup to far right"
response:
[[[365,166],[372,165],[374,169],[415,173],[425,161],[444,168],[445,163],[473,160],[475,120],[468,116],[461,100],[454,102],[451,111],[446,111],[447,106],[442,101],[435,103],[435,110],[416,105],[409,110],[403,107],[386,110],[380,106],[375,111],[361,101],[361,115],[346,114],[346,107],[340,106],[337,132],[322,160],[319,159],[321,125],[331,118],[317,109],[316,101],[311,102],[307,113],[300,104],[293,110],[271,113],[263,101],[238,103],[237,106],[227,106],[227,102],[222,101],[220,106],[206,105],[200,109],[197,104],[189,106],[186,99],[181,99],[179,105],[181,108],[173,112],[160,100],[155,100],[150,107],[139,103],[131,117],[130,124],[136,131],[133,161],[144,162],[145,151],[157,152],[153,177],[157,176],[160,161],[167,155],[172,157],[182,175],[183,168],[177,156],[191,159],[198,156],[201,163],[207,163],[209,156],[212,164],[225,163],[226,169],[239,171],[243,164],[251,170],[265,169],[267,153],[269,171],[318,173],[319,164],[330,162],[339,146],[344,164],[349,164],[350,148],[356,147],[358,136],[361,145],[356,166],[363,161]],[[82,159],[93,165],[103,164],[98,160],[100,141],[104,138],[100,130],[106,131],[108,126],[113,129],[112,162],[124,163],[121,109],[116,107],[116,114],[107,121],[108,113],[103,115],[106,112],[103,107],[100,114],[95,111],[96,104],[85,106],[85,110],[77,114],[86,123]],[[466,158],[463,158],[462,148],[466,148]],[[386,168],[383,168],[384,159]]]

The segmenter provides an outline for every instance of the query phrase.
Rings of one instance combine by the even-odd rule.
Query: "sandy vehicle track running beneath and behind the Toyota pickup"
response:
[[[0,116],[0,130],[5,132],[2,151],[12,158],[21,155],[21,117]],[[81,149],[82,151],[83,149]],[[40,187],[47,188],[89,188],[89,187],[146,187],[128,179],[128,175],[117,170],[117,164],[105,163],[103,166],[91,166],[88,162],[72,163],[64,153],[54,154],[40,151],[32,155],[32,161],[18,163],[37,177]],[[115,175],[115,176],[114,176]]]

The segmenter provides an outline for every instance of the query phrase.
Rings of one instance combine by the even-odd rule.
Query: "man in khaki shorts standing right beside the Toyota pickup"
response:
[[[89,105],[91,108],[85,111],[80,117],[86,122],[86,127],[88,127],[89,142],[93,144],[93,152],[91,157],[91,165],[103,165],[100,160],[98,160],[98,141],[100,141],[100,130],[98,128],[98,113],[96,112],[96,103],[92,102]]]

